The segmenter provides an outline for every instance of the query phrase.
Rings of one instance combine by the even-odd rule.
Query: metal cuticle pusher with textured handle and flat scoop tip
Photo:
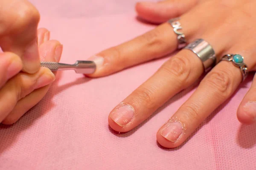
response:
[[[78,74],[92,74],[96,70],[96,64],[93,61],[76,61],[75,64],[41,62],[41,67],[49,68],[51,71],[74,70]]]

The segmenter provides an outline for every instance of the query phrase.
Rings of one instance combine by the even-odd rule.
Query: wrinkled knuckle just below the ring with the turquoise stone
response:
[[[229,69],[211,71],[205,78],[205,83],[217,91],[221,96],[227,97],[232,91],[232,80],[233,73]]]

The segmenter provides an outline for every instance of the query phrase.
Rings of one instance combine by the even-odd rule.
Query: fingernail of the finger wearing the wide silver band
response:
[[[119,126],[125,126],[134,117],[134,109],[129,105],[123,105],[111,114],[111,119]]]

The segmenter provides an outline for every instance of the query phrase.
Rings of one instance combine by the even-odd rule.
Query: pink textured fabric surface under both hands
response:
[[[140,23],[135,0],[33,0],[40,26],[64,44],[61,62],[87,59],[153,26]],[[195,90],[176,95],[128,133],[108,127],[108,114],[167,58],[99,79],[59,72],[44,99],[15,125],[0,126],[1,170],[252,170],[256,126],[241,125],[236,109],[252,75],[181,147],[165,149],[156,133]],[[136,76],[134,76],[136,74]]]

